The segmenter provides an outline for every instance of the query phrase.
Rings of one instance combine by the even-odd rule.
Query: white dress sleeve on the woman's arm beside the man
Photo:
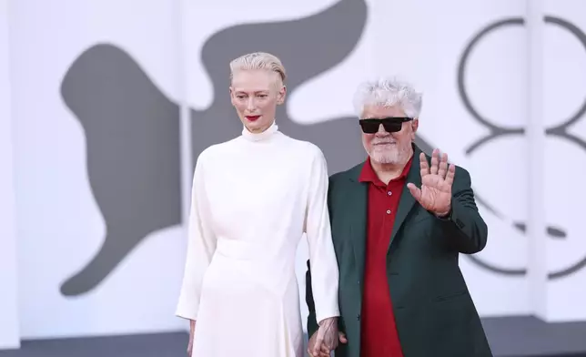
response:
[[[338,261],[328,213],[328,168],[321,150],[311,166],[305,232],[311,263],[311,290],[318,323],[339,316]]]

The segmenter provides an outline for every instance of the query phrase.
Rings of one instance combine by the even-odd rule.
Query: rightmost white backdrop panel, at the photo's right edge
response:
[[[568,232],[565,240],[547,243],[548,273],[560,278],[550,280],[545,306],[551,321],[583,321],[586,242],[581,206],[586,192],[572,181],[581,182],[586,174],[586,6],[581,1],[544,0],[543,8],[553,17],[543,31],[543,125],[551,129],[577,119],[559,130],[566,135],[545,139],[544,215],[546,222]]]

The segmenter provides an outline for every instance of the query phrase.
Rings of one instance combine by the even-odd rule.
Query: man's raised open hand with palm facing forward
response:
[[[424,208],[437,216],[445,216],[451,208],[451,185],[454,182],[456,167],[448,167],[448,154],[442,154],[434,149],[431,154],[431,167],[424,153],[419,155],[421,171],[421,188],[408,183],[407,188],[413,198]]]

